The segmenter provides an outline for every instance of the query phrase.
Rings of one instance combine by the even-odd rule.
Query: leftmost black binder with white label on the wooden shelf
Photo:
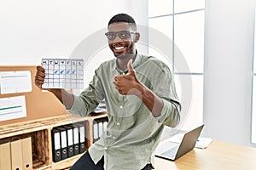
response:
[[[61,134],[55,127],[51,130],[53,161],[61,161]]]

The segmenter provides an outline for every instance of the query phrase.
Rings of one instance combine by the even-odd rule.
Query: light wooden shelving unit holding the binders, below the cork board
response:
[[[76,122],[83,122],[85,127],[85,150],[88,150],[93,143],[92,126],[93,121],[106,117],[107,114],[95,114],[90,116],[76,116],[66,114],[62,116],[52,116],[28,122],[20,122],[8,125],[0,125],[0,142],[11,141],[13,139],[32,138],[32,167],[33,169],[68,169],[82,154],[72,156],[62,161],[53,161],[52,136],[53,127],[59,127]]]

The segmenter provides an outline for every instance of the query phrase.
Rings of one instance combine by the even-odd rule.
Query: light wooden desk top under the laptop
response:
[[[155,170],[255,170],[256,148],[213,140],[205,150],[189,151],[176,161],[155,157]]]

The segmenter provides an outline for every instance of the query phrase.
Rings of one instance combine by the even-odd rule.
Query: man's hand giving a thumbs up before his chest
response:
[[[118,75],[114,77],[113,84],[118,89],[119,94],[122,95],[139,95],[138,88],[140,83],[136,77],[136,71],[132,67],[132,59],[128,61],[128,73],[126,75]]]

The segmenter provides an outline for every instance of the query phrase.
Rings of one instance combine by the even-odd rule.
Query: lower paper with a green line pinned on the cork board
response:
[[[26,117],[25,96],[0,98],[0,122]]]

